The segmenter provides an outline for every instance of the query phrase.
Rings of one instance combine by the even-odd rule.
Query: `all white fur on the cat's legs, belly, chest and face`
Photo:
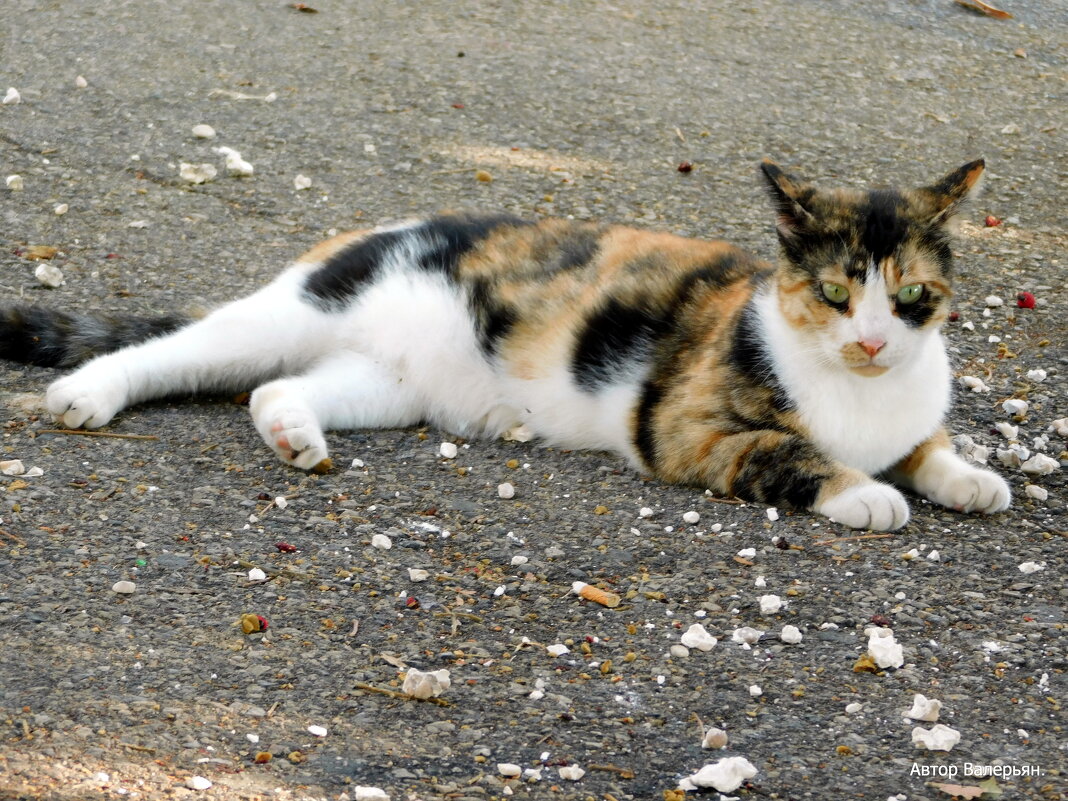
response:
[[[318,263],[297,263],[253,295],[169,335],[96,358],[48,390],[54,419],[97,428],[141,400],[197,391],[257,387],[256,429],[287,464],[309,469],[327,457],[324,430],[404,426],[427,421],[457,434],[500,436],[523,424],[549,443],[615,451],[633,464],[631,415],[641,370],[602,391],[581,390],[567,333],[547,332],[537,352],[509,359],[508,374],[480,348],[466,299],[444,277],[411,269],[428,247],[419,225],[373,283],[343,311],[301,297]],[[880,279],[881,281],[881,279]],[[815,442],[868,474],[886,470],[936,431],[949,400],[949,370],[940,334],[909,329],[889,312],[885,287],[873,282],[860,314],[819,334],[799,336],[773,292],[757,298],[771,367]],[[879,298],[882,298],[879,300]],[[837,352],[858,339],[884,341],[882,376],[850,373]],[[513,355],[515,356],[515,355]],[[951,451],[925,462],[913,488],[939,503],[994,512],[1008,487]],[[871,481],[838,493],[818,511],[854,528],[895,529],[908,504],[894,487]]]

